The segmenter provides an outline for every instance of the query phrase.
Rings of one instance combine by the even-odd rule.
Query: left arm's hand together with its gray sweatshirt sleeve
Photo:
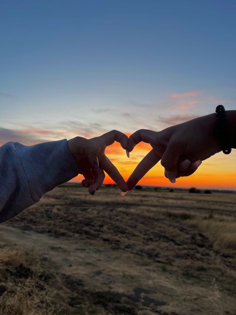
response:
[[[118,131],[90,140],[76,137],[33,146],[17,142],[1,146],[0,223],[15,217],[78,173],[84,175],[83,185],[92,194],[102,185],[104,170],[122,191],[127,191],[124,179],[105,156],[106,147],[115,141],[127,149],[128,138]]]

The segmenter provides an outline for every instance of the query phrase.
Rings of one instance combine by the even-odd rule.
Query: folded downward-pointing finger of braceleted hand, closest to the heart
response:
[[[165,168],[165,176],[175,183],[178,170],[178,160],[182,155],[182,143],[170,140],[161,158],[161,165]]]

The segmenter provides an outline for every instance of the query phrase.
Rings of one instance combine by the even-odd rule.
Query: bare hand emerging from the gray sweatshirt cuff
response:
[[[91,194],[101,187],[105,178],[104,171],[117,183],[121,191],[128,190],[118,169],[105,155],[107,146],[112,145],[115,141],[119,142],[124,150],[127,150],[128,137],[116,130],[90,140],[82,137],[68,140],[68,148],[76,161],[79,173],[85,177],[82,185],[89,187]]]

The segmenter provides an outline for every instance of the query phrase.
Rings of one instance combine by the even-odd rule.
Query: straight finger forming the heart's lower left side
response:
[[[127,184],[124,181],[122,175],[118,171],[117,167],[110,161],[109,158],[104,156],[104,158],[102,158],[102,160],[100,160],[100,166],[117,183],[117,185],[121,191],[127,191],[128,190]]]

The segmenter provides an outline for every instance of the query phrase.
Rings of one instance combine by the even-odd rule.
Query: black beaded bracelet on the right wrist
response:
[[[216,108],[217,127],[216,136],[220,147],[224,154],[231,153],[230,137],[228,132],[228,124],[226,120],[226,110],[223,105],[218,105]]]

